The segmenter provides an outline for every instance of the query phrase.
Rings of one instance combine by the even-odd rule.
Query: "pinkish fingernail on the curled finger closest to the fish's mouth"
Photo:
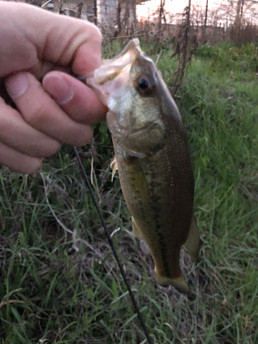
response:
[[[59,105],[65,105],[74,96],[72,88],[66,80],[59,75],[47,75],[43,79],[43,87]]]

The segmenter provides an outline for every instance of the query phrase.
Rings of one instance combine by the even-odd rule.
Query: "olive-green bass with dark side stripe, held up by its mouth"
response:
[[[160,286],[195,299],[182,270],[182,246],[197,264],[200,235],[193,213],[195,180],[186,129],[161,72],[132,39],[87,76],[107,105],[107,125],[133,233],[146,241]]]

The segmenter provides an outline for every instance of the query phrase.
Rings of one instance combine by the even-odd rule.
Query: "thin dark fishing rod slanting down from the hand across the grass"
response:
[[[143,321],[143,319],[142,319],[142,314],[140,314],[140,308],[138,308],[138,305],[137,305],[137,303],[136,303],[136,299],[135,299],[135,297],[134,297],[134,295],[133,295],[133,292],[131,291],[131,286],[130,286],[130,284],[129,284],[129,281],[127,280],[127,277],[126,277],[126,275],[125,275],[125,272],[124,272],[124,270],[123,270],[123,268],[122,268],[122,264],[121,264],[120,259],[119,259],[119,257],[118,257],[118,253],[116,252],[116,248],[115,248],[115,246],[114,246],[113,239],[112,239],[111,236],[109,235],[109,231],[108,231],[108,229],[107,229],[107,226],[106,226],[106,224],[105,224],[105,221],[104,221],[104,219],[103,219],[103,216],[102,216],[101,213],[100,213],[100,208],[99,208],[98,203],[97,203],[97,201],[96,201],[96,198],[95,198],[95,196],[94,196],[94,192],[93,192],[93,190],[92,190],[92,186],[91,186],[91,184],[89,183],[89,179],[87,178],[87,174],[86,174],[85,169],[84,169],[84,167],[83,167],[83,163],[82,163],[82,161],[80,160],[80,156],[79,156],[79,154],[78,154],[78,151],[77,151],[76,147],[74,147],[74,151],[75,151],[75,154],[76,154],[76,158],[77,158],[77,160],[78,160],[78,163],[79,163],[79,165],[80,165],[80,169],[83,171],[83,175],[84,175],[86,184],[87,184],[87,186],[88,186],[88,188],[89,188],[89,192],[90,192],[90,194],[92,195],[92,200],[93,200],[93,202],[94,202],[94,204],[95,204],[95,206],[96,206],[96,210],[98,211],[98,216],[100,217],[100,221],[101,221],[101,223],[102,223],[102,225],[103,225],[103,228],[105,229],[105,233],[106,233],[106,235],[107,235],[107,239],[108,239],[109,244],[110,244],[110,246],[111,246],[111,249],[112,249],[112,251],[113,251],[113,253],[114,253],[114,256],[115,256],[115,258],[116,258],[116,261],[117,261],[117,263],[118,263],[118,267],[119,267],[120,272],[121,272],[121,274],[122,274],[122,279],[125,281],[125,285],[127,286],[127,290],[128,290],[129,295],[130,295],[130,297],[131,297],[131,302],[133,303],[133,307],[135,308],[136,314],[138,315],[138,319],[139,319],[139,321],[140,321],[140,325],[142,326],[142,330],[143,330],[143,332],[144,332],[144,334],[145,334],[145,336],[146,336],[146,338],[147,338],[147,342],[148,342],[149,344],[153,344],[153,342],[152,342],[152,340],[151,340],[151,337],[149,336],[149,331],[147,330],[147,326],[145,325],[145,323],[144,323],[144,321]]]

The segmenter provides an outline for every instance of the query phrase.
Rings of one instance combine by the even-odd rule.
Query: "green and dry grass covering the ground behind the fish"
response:
[[[170,55],[158,67],[172,87]],[[197,267],[182,252],[194,302],[155,285],[118,178],[111,183],[107,126],[79,149],[110,232],[120,228],[113,238],[156,344],[258,343],[257,72],[252,45],[201,47],[175,98],[202,237]],[[146,343],[72,148],[46,160],[41,174],[1,168],[0,185],[0,343]]]

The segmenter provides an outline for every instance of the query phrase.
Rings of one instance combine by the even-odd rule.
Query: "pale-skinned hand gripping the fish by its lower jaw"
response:
[[[105,120],[106,107],[72,76],[101,64],[101,34],[23,3],[0,1],[0,22],[0,164],[34,173],[62,142],[87,144]]]

